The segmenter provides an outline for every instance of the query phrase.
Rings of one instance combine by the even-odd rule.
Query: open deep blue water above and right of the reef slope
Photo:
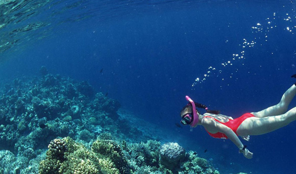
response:
[[[185,95],[233,118],[280,101],[296,81],[291,79],[296,73],[294,0],[38,3],[18,10],[35,5],[30,18],[9,21],[6,16],[9,22],[0,28],[1,45],[19,39],[0,47],[2,81],[37,75],[44,65],[50,73],[87,80],[138,117],[183,135],[172,141],[213,158],[222,173],[293,173],[295,122],[244,142],[254,153],[251,160],[238,154],[230,140],[213,139],[200,127],[190,132],[175,123]],[[33,23],[43,25],[10,33]],[[192,86],[196,78],[200,81]],[[290,108],[295,105],[293,101]]]

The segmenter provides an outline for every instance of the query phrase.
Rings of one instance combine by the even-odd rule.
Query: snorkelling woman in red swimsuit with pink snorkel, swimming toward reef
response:
[[[296,75],[292,77],[296,77]],[[239,148],[239,153],[243,153],[246,158],[251,159],[253,153],[246,148],[238,136],[249,141],[251,135],[266,134],[296,120],[296,107],[287,112],[288,105],[295,95],[296,83],[284,93],[278,104],[259,112],[245,113],[236,119],[219,114],[219,111],[209,110],[207,106],[194,103],[186,96],[189,103],[181,110],[181,123],[191,127],[202,125],[210,136],[230,139]],[[196,107],[204,108],[207,112],[201,115]]]

